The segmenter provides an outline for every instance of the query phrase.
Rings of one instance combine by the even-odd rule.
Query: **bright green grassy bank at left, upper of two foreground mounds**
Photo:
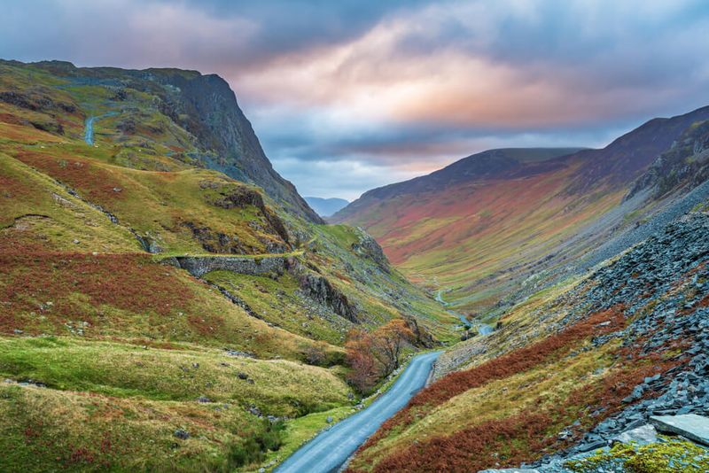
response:
[[[340,407],[350,392],[331,371],[293,361],[66,337],[0,339],[0,376],[115,397],[195,401],[204,396],[289,416]]]

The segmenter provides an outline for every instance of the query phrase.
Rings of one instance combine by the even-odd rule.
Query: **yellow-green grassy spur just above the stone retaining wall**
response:
[[[214,204],[220,195],[259,192],[214,171],[139,171],[34,149],[13,156],[101,205],[166,252],[205,252],[208,244],[214,252],[264,253],[267,244],[284,245],[261,209]]]

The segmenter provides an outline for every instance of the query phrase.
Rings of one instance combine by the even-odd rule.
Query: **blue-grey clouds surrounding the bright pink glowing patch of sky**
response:
[[[551,84],[570,106],[584,109],[573,123],[546,126],[465,126],[438,117],[331,123],[337,103],[274,109],[258,95],[240,93],[245,71],[268,72],[274,61],[293,54],[308,60],[308,53],[317,57],[320,49],[356,41],[373,28],[401,24],[413,27],[403,28],[378,60],[435,64],[453,50],[510,67],[520,87]],[[352,198],[483,147],[603,145],[652,116],[709,104],[707,53],[709,5],[702,0],[11,0],[0,16],[3,58],[182,66],[224,75],[277,169],[300,190],[323,197]],[[342,66],[342,77],[362,74],[370,61],[362,54]],[[405,71],[387,74],[388,80],[407,79]]]

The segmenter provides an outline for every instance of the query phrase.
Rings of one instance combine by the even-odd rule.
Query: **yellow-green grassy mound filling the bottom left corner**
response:
[[[234,471],[265,454],[266,423],[237,406],[0,385],[0,451],[27,472]],[[175,437],[175,431],[190,437]],[[235,458],[234,452],[250,452]]]

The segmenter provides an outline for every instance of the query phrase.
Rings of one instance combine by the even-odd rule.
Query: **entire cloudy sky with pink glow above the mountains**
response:
[[[705,0],[3,0],[0,57],[222,75],[303,195],[709,105]]]

